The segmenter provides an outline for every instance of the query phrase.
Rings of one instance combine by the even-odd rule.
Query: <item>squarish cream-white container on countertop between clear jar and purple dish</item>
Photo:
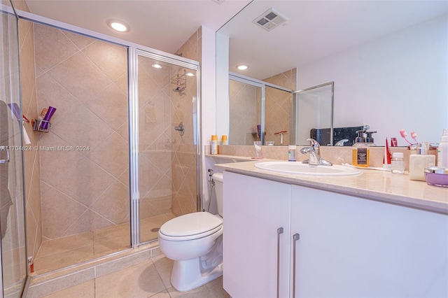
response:
[[[425,168],[435,166],[435,156],[429,154],[429,143],[417,143],[416,149],[409,155],[409,179],[425,181]]]

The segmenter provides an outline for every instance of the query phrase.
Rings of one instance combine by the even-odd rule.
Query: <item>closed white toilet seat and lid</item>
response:
[[[200,239],[220,231],[223,220],[208,212],[188,213],[165,222],[159,237],[168,241]]]

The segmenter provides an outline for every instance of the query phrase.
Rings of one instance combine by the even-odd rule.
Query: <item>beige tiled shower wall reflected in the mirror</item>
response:
[[[266,78],[264,81],[296,90],[297,69],[290,69],[278,75]],[[281,135],[276,132],[285,132],[283,134],[283,145],[288,145],[290,140],[290,93],[266,87],[265,92],[265,141],[275,141],[280,144]]]

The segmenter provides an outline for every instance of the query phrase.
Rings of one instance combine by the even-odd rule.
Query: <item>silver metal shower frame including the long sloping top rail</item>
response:
[[[197,201],[197,211],[200,211],[202,207],[201,201],[201,189],[202,189],[202,166],[201,166],[201,98],[200,98],[200,62],[192,59],[180,57],[168,52],[163,52],[161,50],[156,50],[153,48],[146,47],[144,45],[139,45],[137,43],[132,43],[130,41],[125,41],[120,38],[113,36],[108,36],[106,34],[101,34],[92,30],[84,29],[81,27],[73,26],[71,24],[66,24],[64,22],[59,22],[57,20],[49,19],[48,17],[42,17],[41,15],[35,15],[34,13],[28,13],[23,10],[15,10],[18,17],[22,20],[27,20],[30,22],[37,22],[39,24],[44,24],[46,26],[55,27],[57,29],[63,29],[66,31],[71,31],[76,34],[81,34],[84,36],[99,39],[101,41],[106,41],[109,43],[115,43],[116,45],[122,45],[128,49],[128,129],[130,134],[130,226],[131,226],[131,237],[130,244],[132,248],[136,248],[141,243],[139,242],[139,215],[138,215],[138,199],[139,199],[139,136],[138,136],[138,81],[137,81],[137,70],[138,61],[137,53],[142,53],[144,56],[150,55],[149,57],[158,57],[163,59],[163,61],[185,66],[188,69],[194,69],[197,71],[197,94],[196,94],[196,166],[197,166],[197,187],[196,187],[196,201]],[[136,89],[137,88],[137,89]],[[136,97],[137,96],[137,97]],[[137,134],[137,135],[136,135]],[[136,151],[137,150],[137,151]],[[137,178],[136,178],[137,177]],[[137,181],[136,181],[137,180]]]

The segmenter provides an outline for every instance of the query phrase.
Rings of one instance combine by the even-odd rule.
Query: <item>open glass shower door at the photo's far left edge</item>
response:
[[[1,295],[20,297],[27,278],[18,19],[2,1],[0,71]]]

